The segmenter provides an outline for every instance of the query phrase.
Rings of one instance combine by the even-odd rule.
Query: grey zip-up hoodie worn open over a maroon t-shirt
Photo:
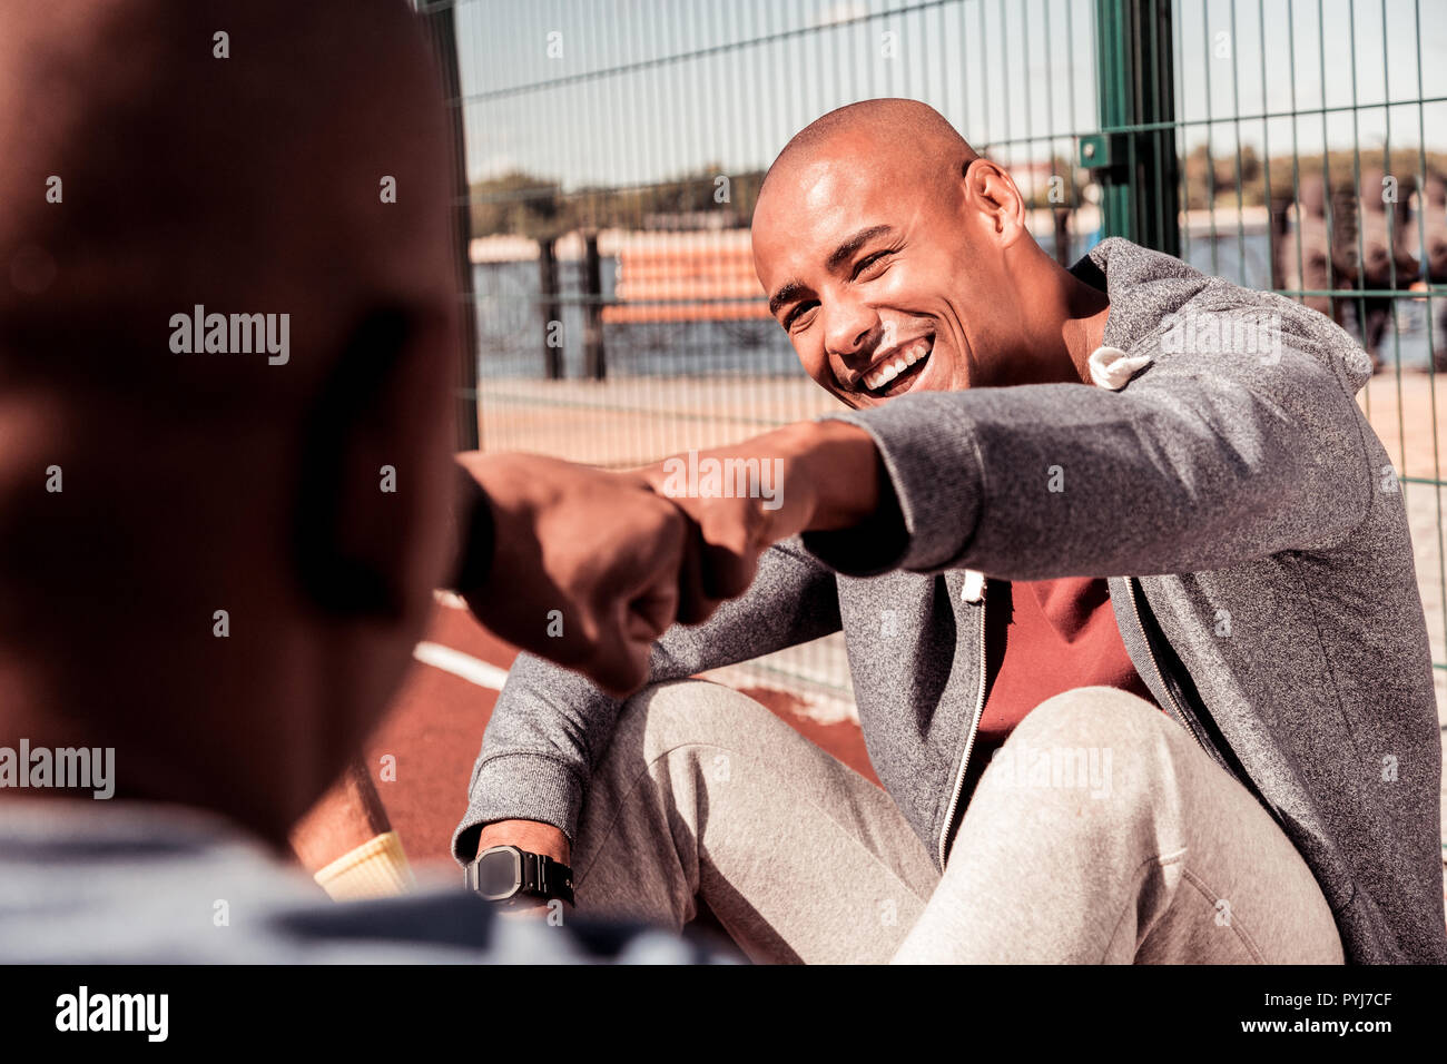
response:
[[[1431,651],[1402,494],[1354,401],[1370,360],[1315,311],[1119,237],[1072,272],[1110,297],[1104,387],[829,414],[874,437],[897,517],[776,544],[744,596],[657,643],[651,679],[842,627],[870,760],[942,869],[984,704],[978,575],[1107,576],[1136,670],[1292,840],[1347,960],[1447,961]],[[518,657],[456,857],[496,819],[572,837],[619,705]]]

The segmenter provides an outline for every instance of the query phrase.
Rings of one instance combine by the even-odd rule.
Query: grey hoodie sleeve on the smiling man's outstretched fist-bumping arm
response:
[[[903,528],[807,533],[841,573],[969,567],[1003,579],[1143,576],[1320,550],[1365,520],[1375,469],[1334,352],[1130,353],[1121,391],[1022,385],[901,395],[831,414],[868,431]]]

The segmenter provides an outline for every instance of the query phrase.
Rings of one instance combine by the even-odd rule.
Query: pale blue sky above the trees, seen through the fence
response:
[[[1052,148],[1072,153],[1064,135],[1097,124],[1094,9],[1094,0],[459,0],[469,172],[522,168],[576,188],[715,164],[761,168],[823,111],[878,96],[933,104],[1007,164]],[[1179,119],[1344,107],[1354,88],[1359,104],[1372,104],[1356,129],[1350,111],[1327,116],[1325,132],[1323,116],[1299,117],[1302,153],[1318,152],[1324,136],[1350,148],[1389,135],[1393,158],[1401,151],[1412,169],[1420,122],[1428,149],[1447,151],[1447,101],[1421,116],[1415,104],[1380,106],[1447,97],[1447,0],[1178,0],[1175,12]],[[893,58],[883,54],[886,33],[896,35]],[[550,56],[550,43],[561,55]],[[676,55],[689,58],[660,62]],[[1061,139],[1003,143],[1048,135]],[[1205,135],[1188,127],[1187,149]],[[1257,151],[1266,138],[1281,155],[1292,122],[1246,120],[1239,136]],[[1236,124],[1211,127],[1211,145],[1233,153]]]

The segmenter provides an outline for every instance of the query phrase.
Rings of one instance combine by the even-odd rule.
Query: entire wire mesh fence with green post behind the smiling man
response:
[[[912,97],[1010,169],[1061,262],[1119,233],[1354,330],[1382,363],[1360,401],[1402,482],[1447,669],[1443,4],[431,7],[456,32],[482,447],[621,468],[831,410],[768,317],[752,201],[819,114]],[[752,670],[849,711],[836,640]]]

